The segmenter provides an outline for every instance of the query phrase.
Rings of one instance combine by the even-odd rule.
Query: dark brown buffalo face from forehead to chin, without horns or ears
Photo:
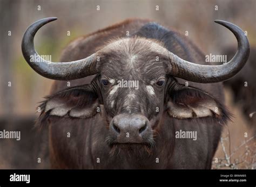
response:
[[[120,47],[122,46],[122,47]],[[167,50],[146,39],[111,42],[99,53],[100,94],[109,124],[109,145],[152,147],[164,111]]]

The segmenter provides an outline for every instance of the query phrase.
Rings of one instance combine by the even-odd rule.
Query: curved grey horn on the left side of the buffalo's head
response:
[[[72,62],[50,62],[44,60],[35,51],[33,39],[36,32],[43,25],[56,20],[57,18],[44,18],[31,24],[23,35],[22,53],[28,62],[38,74],[51,78],[53,80],[75,80],[97,73],[96,53],[82,60]]]

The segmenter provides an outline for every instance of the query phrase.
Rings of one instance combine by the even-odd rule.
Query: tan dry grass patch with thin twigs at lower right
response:
[[[232,103],[229,90],[225,91],[225,96],[234,119],[224,128],[212,169],[256,169],[256,135],[242,116],[239,106]]]

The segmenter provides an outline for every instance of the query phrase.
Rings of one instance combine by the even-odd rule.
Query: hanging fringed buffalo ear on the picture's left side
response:
[[[90,118],[96,114],[98,106],[98,96],[88,84],[48,96],[39,107],[44,117]]]

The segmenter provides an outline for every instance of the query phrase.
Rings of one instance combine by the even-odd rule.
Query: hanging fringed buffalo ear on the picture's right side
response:
[[[223,120],[229,118],[229,113],[225,107],[205,91],[182,86],[169,94],[167,110],[173,118],[214,117]]]

